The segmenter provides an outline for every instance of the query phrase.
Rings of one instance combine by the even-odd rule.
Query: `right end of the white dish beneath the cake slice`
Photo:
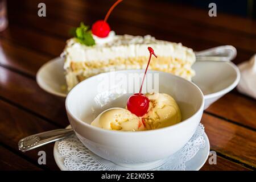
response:
[[[196,76],[192,81],[204,93],[204,109],[234,89],[240,81],[240,71],[229,61],[198,61],[192,68]]]

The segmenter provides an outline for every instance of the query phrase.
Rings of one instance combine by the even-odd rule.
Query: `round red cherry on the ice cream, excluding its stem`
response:
[[[149,102],[148,98],[143,94],[135,93],[133,96],[129,97],[127,109],[131,111],[131,113],[141,117],[147,113]]]

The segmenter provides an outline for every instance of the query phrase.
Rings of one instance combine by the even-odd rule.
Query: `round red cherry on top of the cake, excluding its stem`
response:
[[[92,26],[93,35],[96,35],[99,38],[105,38],[109,35],[109,32],[110,32],[109,24],[104,20],[98,20],[97,22],[93,23],[93,26]]]

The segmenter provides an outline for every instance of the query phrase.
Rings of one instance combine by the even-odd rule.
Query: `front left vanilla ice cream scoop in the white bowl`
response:
[[[137,115],[131,113],[129,110],[119,107],[103,111],[96,119],[94,119],[91,125],[107,130],[145,130],[141,118],[137,117]]]

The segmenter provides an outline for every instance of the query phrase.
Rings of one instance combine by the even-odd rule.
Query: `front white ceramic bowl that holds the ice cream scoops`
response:
[[[81,142],[98,156],[125,167],[147,166],[180,150],[195,133],[204,110],[203,93],[195,84],[170,73],[149,71],[146,82],[155,84],[156,80],[150,80],[149,76],[159,76],[159,92],[175,98],[182,122],[163,129],[136,132],[110,131],[91,126],[90,123],[101,111],[110,107],[125,107],[132,93],[127,94],[129,89],[123,88],[117,89],[118,93],[113,90],[121,88],[122,84],[131,88],[134,81],[121,79],[120,75],[128,77],[143,72],[118,71],[90,77],[69,92],[65,103],[69,122]],[[106,82],[113,78],[119,79],[118,83],[106,88]],[[102,83],[106,84],[105,90],[102,90]]]

